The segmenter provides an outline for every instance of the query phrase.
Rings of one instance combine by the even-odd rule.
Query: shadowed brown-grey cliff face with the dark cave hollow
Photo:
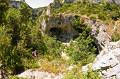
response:
[[[72,15],[46,16],[42,18],[41,30],[62,42],[69,42],[78,32],[72,27]]]

